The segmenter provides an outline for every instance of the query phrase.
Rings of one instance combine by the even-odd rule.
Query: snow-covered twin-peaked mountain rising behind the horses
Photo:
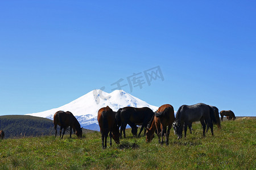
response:
[[[82,127],[91,130],[99,130],[97,121],[98,110],[102,107],[106,107],[107,105],[112,108],[113,111],[118,111],[119,108],[127,106],[137,108],[148,107],[151,108],[152,111],[156,111],[158,109],[158,107],[147,104],[145,101],[127,94],[122,90],[115,90],[110,94],[102,90],[93,90],[59,108],[27,115],[53,120],[53,115],[57,111],[70,111],[74,114]]]

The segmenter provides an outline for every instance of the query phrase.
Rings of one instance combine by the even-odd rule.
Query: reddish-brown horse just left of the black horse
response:
[[[112,137],[115,143],[119,144],[119,127],[117,125],[117,120],[115,120],[116,112],[113,112],[109,106],[101,108],[98,111],[98,125],[100,126],[101,139],[102,139],[102,148],[106,148],[106,140],[108,134],[110,137],[110,146],[112,146]],[[105,139],[105,145],[104,145]]]

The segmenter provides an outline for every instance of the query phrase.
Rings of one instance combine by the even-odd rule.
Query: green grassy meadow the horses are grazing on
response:
[[[68,135],[0,140],[0,169],[256,169],[256,119],[226,121],[214,126],[214,137],[202,137],[200,124],[193,134],[160,146],[156,137],[133,138],[127,129],[120,145],[103,150],[99,132],[82,139]]]

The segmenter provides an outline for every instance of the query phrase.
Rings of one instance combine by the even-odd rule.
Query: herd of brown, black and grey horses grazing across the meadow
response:
[[[182,138],[184,129],[184,137],[187,135],[187,128],[192,133],[192,122],[200,121],[203,127],[203,137],[205,137],[205,131],[210,131],[213,134],[213,125],[217,125],[221,128],[220,122],[223,121],[223,117],[226,116],[228,120],[235,120],[236,116],[232,111],[221,111],[221,120],[219,117],[218,108],[212,105],[204,103],[197,103],[194,105],[181,105],[174,115],[174,107],[170,104],[164,104],[158,108],[156,112],[153,112],[148,107],[134,108],[124,107],[120,108],[117,112],[114,112],[111,108],[104,107],[98,111],[98,125],[100,126],[102,148],[107,146],[108,135],[110,137],[110,146],[112,146],[112,138],[115,143],[119,144],[119,140],[123,137],[126,138],[125,129],[127,124],[131,127],[131,133],[137,136],[138,127],[141,125],[138,137],[141,135],[144,129],[144,135],[146,135],[146,142],[151,142],[154,138],[154,134],[158,136],[158,141],[163,145],[163,138],[166,139],[166,145],[169,143],[170,130],[173,127],[174,133],[178,139]],[[57,135],[57,125],[63,130],[62,137],[65,130],[70,127],[70,138],[72,130],[77,137],[82,137],[82,128],[75,116],[71,112],[58,111],[53,117],[53,124],[55,128],[55,137]]]

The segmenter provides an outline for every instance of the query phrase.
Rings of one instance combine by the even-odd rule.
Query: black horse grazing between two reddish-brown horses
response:
[[[144,107],[144,108],[125,107],[125,108],[119,109],[117,111],[117,120],[118,120],[119,126],[121,125],[120,138],[122,138],[122,131],[123,131],[123,137],[126,138],[125,128],[127,124],[131,126],[133,133],[135,133],[133,135],[137,135],[136,125],[142,125],[141,130],[139,131],[139,135],[141,135],[143,128],[147,127],[148,122],[150,122],[153,116],[154,116],[154,112],[148,107]]]

